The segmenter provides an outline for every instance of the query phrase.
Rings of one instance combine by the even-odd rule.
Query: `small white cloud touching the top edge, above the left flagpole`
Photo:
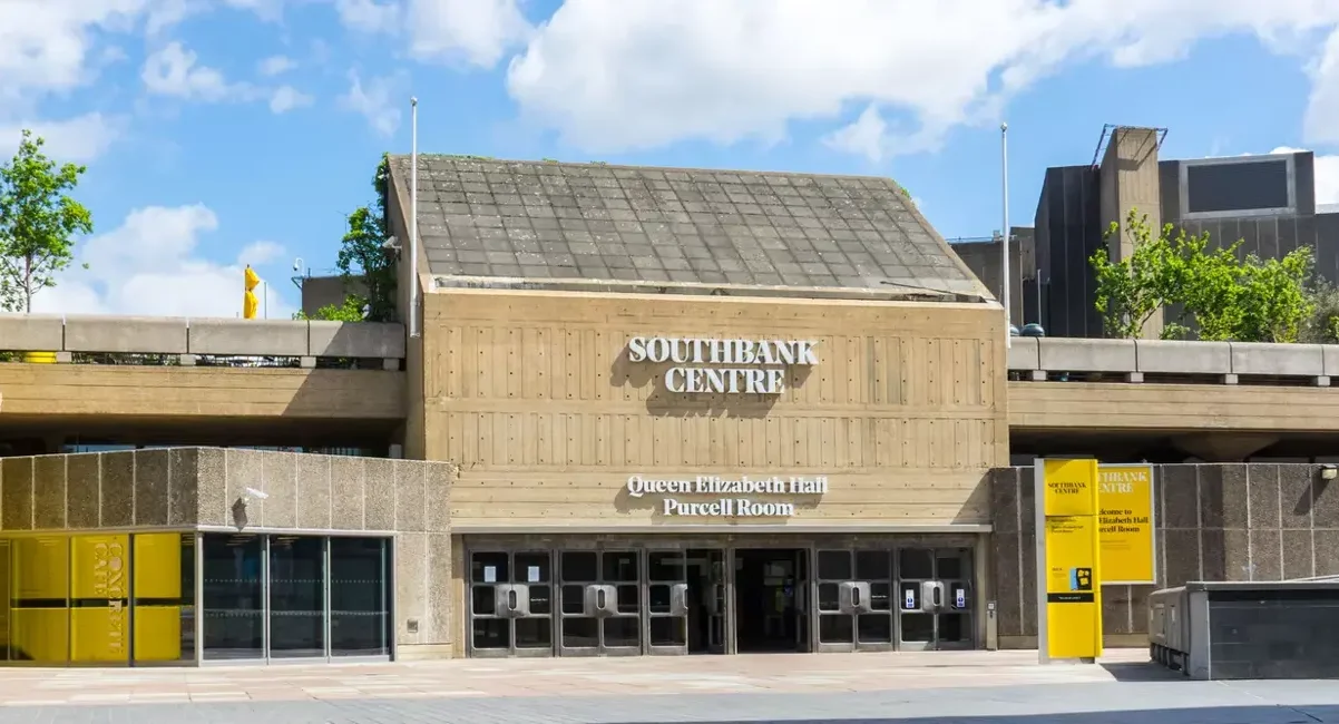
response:
[[[408,0],[406,13],[410,52],[420,60],[461,59],[491,68],[532,32],[517,0]]]

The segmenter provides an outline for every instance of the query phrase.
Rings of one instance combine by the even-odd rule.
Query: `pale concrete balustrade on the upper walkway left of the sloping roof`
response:
[[[183,365],[201,356],[380,359],[399,369],[404,327],[382,323],[0,314],[0,352],[174,355]]]

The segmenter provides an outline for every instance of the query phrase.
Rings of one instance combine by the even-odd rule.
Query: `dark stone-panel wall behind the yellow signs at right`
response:
[[[1031,467],[992,471],[992,577],[1002,648],[1036,645]],[[1188,581],[1339,574],[1339,480],[1312,464],[1154,466],[1157,586],[1105,586],[1109,645],[1145,645],[1148,594]]]

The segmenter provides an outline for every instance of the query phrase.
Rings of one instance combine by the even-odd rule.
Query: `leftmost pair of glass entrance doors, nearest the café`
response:
[[[470,553],[470,654],[553,654],[549,551]]]

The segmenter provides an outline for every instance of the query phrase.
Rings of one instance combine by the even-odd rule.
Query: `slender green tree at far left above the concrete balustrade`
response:
[[[43,139],[24,130],[13,159],[0,166],[0,309],[31,312],[32,296],[55,286],[74,260],[75,234],[92,233],[92,214],[67,191],[86,169],[56,165]]]

